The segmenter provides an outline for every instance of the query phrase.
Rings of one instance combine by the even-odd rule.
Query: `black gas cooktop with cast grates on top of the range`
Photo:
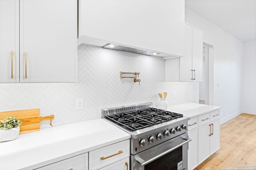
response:
[[[143,108],[135,111],[126,111],[104,116],[104,118],[129,131],[136,131],[145,127],[177,119],[179,117],[183,117],[183,115],[156,108]]]

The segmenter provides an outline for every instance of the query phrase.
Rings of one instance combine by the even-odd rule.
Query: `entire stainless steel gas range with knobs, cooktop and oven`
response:
[[[102,109],[102,118],[130,133],[131,170],[187,170],[190,118],[152,105]]]

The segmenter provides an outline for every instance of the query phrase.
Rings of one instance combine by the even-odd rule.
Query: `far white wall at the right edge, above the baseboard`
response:
[[[242,108],[244,113],[256,114],[256,41],[244,43],[242,76]]]

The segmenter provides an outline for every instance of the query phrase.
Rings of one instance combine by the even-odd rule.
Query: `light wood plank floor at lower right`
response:
[[[243,165],[256,170],[256,115],[246,113],[220,125],[220,149],[195,170],[235,169]]]

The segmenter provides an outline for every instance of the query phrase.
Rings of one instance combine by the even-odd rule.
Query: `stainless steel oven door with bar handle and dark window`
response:
[[[187,170],[188,133],[131,155],[131,170]]]

